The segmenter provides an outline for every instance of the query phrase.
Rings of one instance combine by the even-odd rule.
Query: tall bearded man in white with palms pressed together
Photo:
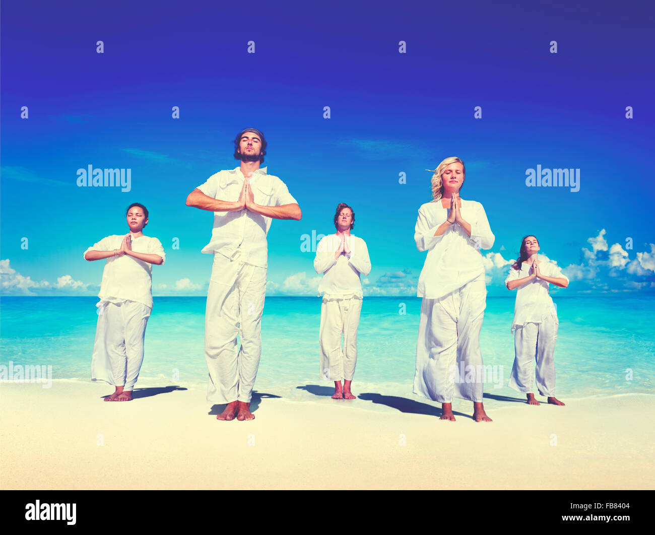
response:
[[[227,404],[218,420],[253,420],[252,389],[261,356],[268,244],[273,219],[302,212],[282,180],[259,168],[267,142],[256,128],[234,138],[233,170],[219,171],[187,196],[187,206],[214,212],[212,239],[203,253],[214,255],[205,312],[207,401]],[[241,347],[236,348],[236,336]]]

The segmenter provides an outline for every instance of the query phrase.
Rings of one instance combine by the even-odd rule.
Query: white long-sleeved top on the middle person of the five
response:
[[[341,236],[329,234],[324,236],[316,248],[314,269],[322,273],[323,278],[318,285],[318,295],[324,294],[327,299],[349,299],[359,297],[362,299],[362,280],[360,274],[367,276],[371,272],[371,260],[368,248],[362,238],[346,236],[350,257],[344,254],[335,258],[334,253],[339,249]]]

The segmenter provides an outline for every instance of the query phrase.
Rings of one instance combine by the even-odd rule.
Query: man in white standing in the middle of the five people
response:
[[[364,298],[360,274],[371,272],[364,240],[350,234],[354,224],[352,208],[342,202],[334,216],[337,232],[322,238],[314,259],[314,269],[323,274],[318,286],[319,295],[323,293],[318,335],[320,374],[334,381],[333,399],[355,399],[350,385],[357,363],[357,327]]]

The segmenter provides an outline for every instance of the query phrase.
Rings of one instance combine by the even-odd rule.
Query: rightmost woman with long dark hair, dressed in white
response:
[[[555,341],[559,320],[548,285],[569,286],[569,278],[550,261],[538,259],[539,242],[529,234],[521,240],[519,257],[505,280],[516,292],[514,304],[514,366],[510,385],[523,392],[530,405],[539,405],[533,394],[533,361],[536,360],[536,387],[548,403],[564,405],[555,397]]]

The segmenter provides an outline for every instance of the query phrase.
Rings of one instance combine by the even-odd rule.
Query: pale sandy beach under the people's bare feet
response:
[[[367,410],[363,399],[277,397],[255,401],[252,422],[219,422],[203,388],[103,402],[111,390],[74,380],[0,384],[0,488],[655,486],[655,397],[644,394],[563,398],[566,407],[496,404],[487,408],[492,423],[474,422],[468,402],[454,403],[452,423]]]

